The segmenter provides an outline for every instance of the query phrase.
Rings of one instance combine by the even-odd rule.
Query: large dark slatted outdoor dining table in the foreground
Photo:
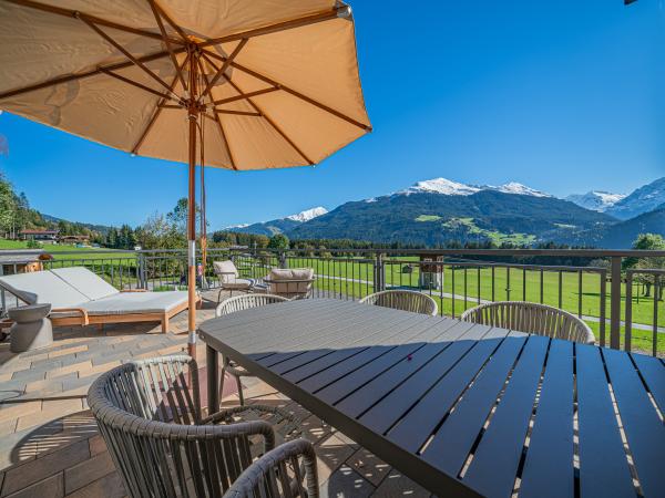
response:
[[[439,496],[665,495],[657,357],[307,299],[200,328],[218,353]]]

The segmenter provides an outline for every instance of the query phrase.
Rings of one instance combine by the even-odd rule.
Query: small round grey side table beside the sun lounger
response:
[[[12,353],[37,350],[53,343],[53,328],[47,317],[51,304],[30,304],[8,310],[9,318],[14,321],[9,330],[10,350]]]

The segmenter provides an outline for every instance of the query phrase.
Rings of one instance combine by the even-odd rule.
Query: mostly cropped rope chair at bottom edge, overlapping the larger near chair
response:
[[[298,460],[301,460],[303,464]],[[295,474],[291,480],[283,476]],[[305,474],[307,489],[293,488],[293,483],[301,483]],[[318,498],[318,477],[314,446],[306,439],[285,443],[267,453],[247,468],[224,498]]]

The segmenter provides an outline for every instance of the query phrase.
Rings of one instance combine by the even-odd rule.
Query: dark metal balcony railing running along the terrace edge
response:
[[[43,261],[45,269],[83,266],[119,289],[161,291],[187,283],[183,250],[98,249],[53,256]],[[665,270],[622,269],[626,258],[654,257],[665,258],[665,251],[209,249],[206,268],[200,263],[197,284],[217,288],[213,261],[232,259],[243,277],[257,280],[272,268],[314,268],[315,298],[356,300],[391,288],[417,290],[431,295],[439,312],[449,317],[489,301],[540,302],[586,321],[601,345],[665,356]],[[1,298],[3,310],[18,304],[6,293]]]

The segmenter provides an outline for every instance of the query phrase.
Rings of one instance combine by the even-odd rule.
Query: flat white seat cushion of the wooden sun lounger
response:
[[[86,302],[81,308],[92,315],[165,313],[186,302],[186,291],[120,292],[108,298]]]

